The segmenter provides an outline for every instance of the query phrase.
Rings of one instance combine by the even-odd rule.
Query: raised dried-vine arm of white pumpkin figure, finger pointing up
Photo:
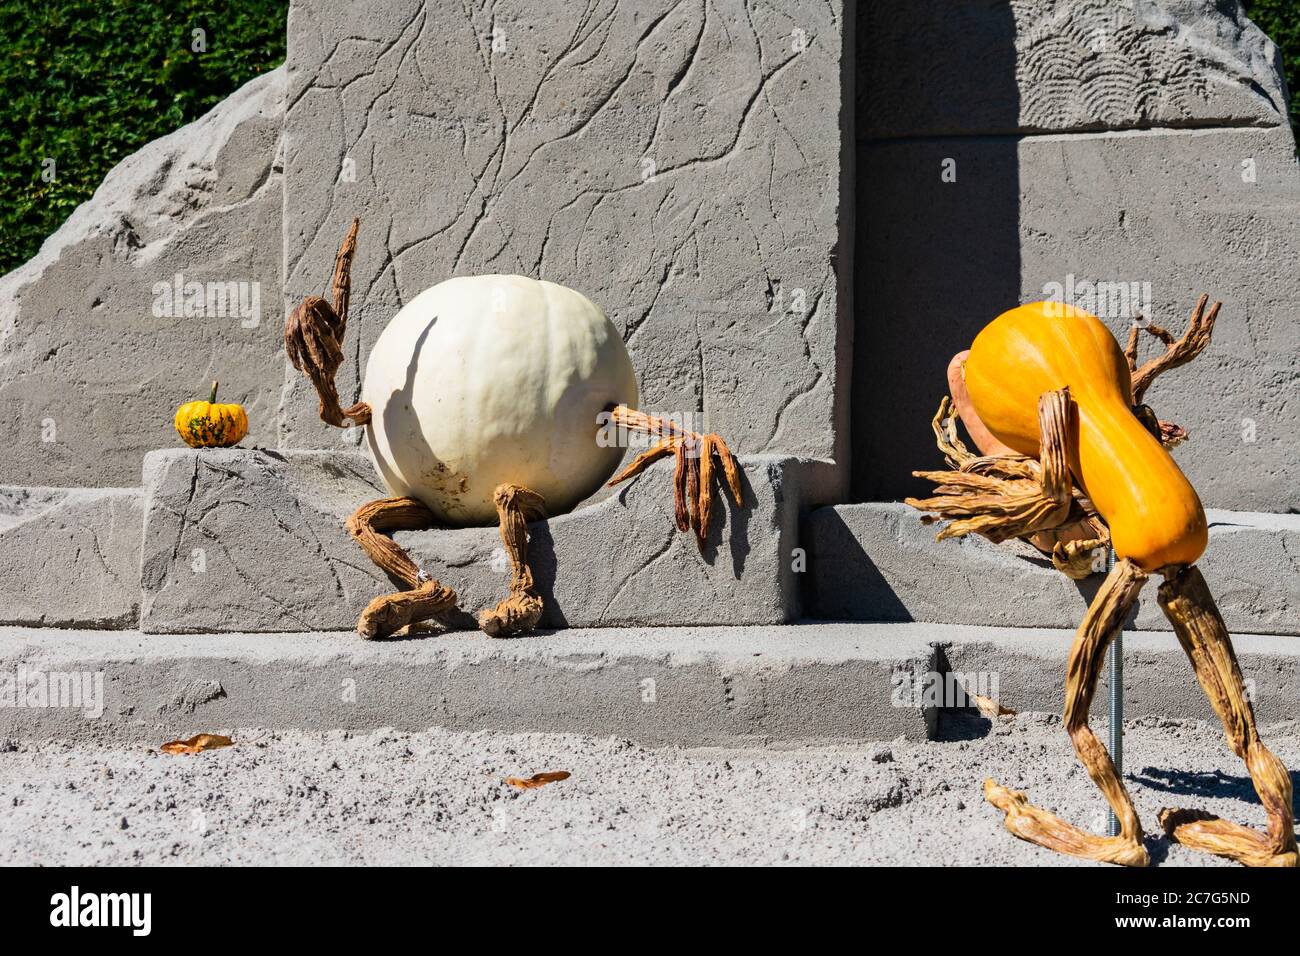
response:
[[[318,295],[308,295],[285,320],[285,352],[294,368],[307,375],[320,397],[321,420],[335,428],[364,425],[370,420],[370,406],[358,402],[350,408],[339,406],[334,377],[343,364],[343,334],[347,330],[347,308],[352,293],[352,256],[356,254],[356,230],[352,220],[343,245],[334,258],[330,282],[333,304]]]

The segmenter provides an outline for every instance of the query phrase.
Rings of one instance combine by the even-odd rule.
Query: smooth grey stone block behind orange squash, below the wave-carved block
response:
[[[939,181],[945,157],[957,182]],[[893,189],[867,204],[875,226],[859,260],[874,302],[857,330],[855,407],[872,414],[855,419],[855,497],[928,493],[910,472],[940,463],[930,421],[950,356],[996,315],[1074,276],[1149,284],[1145,313],[1176,334],[1197,295],[1222,299],[1210,347],[1157,380],[1148,402],[1191,432],[1175,457],[1208,507],[1300,509],[1290,129],[878,142],[859,161],[859,176]],[[1122,303],[1100,311],[1123,342]],[[1148,358],[1154,339],[1144,338]]]

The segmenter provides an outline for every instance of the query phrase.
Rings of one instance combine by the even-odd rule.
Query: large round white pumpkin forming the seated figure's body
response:
[[[547,514],[608,479],[621,447],[598,416],[636,407],[637,381],[599,306],[554,282],[467,276],[426,289],[380,334],[361,399],[374,466],[395,496],[447,524],[495,524],[493,492],[524,485]]]

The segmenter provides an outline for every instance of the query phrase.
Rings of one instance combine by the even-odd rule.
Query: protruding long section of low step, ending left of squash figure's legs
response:
[[[858,633],[866,633],[858,628]],[[554,731],[647,744],[923,737],[896,708],[919,631],[841,626],[604,628],[367,643],[355,633],[143,635],[0,628],[0,674],[103,672],[105,709],[0,708],[0,736],[161,741],[218,727]],[[927,723],[928,721],[928,723]]]

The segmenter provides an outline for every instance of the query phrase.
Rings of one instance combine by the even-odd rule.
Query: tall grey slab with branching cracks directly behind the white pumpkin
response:
[[[647,410],[833,457],[841,21],[838,0],[295,0],[286,307],[360,216],[344,401],[415,294],[521,273],[606,310]],[[281,447],[347,442],[286,372]]]

